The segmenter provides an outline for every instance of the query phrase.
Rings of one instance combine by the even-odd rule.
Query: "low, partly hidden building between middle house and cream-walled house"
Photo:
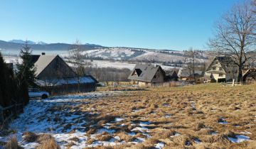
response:
[[[178,79],[182,81],[196,81],[197,83],[201,82],[201,77],[203,77],[204,72],[195,70],[195,74],[193,74],[193,70],[181,69],[178,70]],[[194,77],[196,80],[194,80]]]

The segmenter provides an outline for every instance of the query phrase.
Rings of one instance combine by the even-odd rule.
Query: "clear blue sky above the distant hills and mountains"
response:
[[[0,40],[206,49],[213,24],[242,0],[0,0]]]

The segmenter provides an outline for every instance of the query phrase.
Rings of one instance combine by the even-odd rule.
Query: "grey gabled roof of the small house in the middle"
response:
[[[128,79],[134,79],[142,82],[151,82],[156,75],[157,70],[160,70],[164,73],[164,70],[161,69],[159,65],[151,65],[151,64],[137,64],[132,70],[132,73],[129,75]],[[137,75],[134,75],[134,72]]]

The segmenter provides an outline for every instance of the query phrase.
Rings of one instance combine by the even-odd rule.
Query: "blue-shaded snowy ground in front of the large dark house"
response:
[[[61,148],[65,148],[71,140],[70,138],[79,138],[79,142],[72,148],[84,148],[85,146],[97,145],[115,145],[114,138],[110,141],[97,141],[92,145],[86,145],[85,124],[87,116],[94,116],[93,112],[84,113],[79,111],[81,104],[90,104],[103,96],[114,96],[119,92],[93,92],[69,96],[53,96],[49,99],[32,99],[28,106],[25,107],[23,114],[19,115],[11,122],[10,128],[16,130],[11,136],[16,136],[18,142],[24,148],[35,148],[38,143],[27,143],[23,141],[23,132],[30,131],[33,133],[50,133]],[[74,110],[76,107],[77,110]],[[93,109],[90,109],[93,111]],[[107,131],[108,129],[100,129],[97,133]],[[96,134],[94,134],[95,136]],[[93,137],[93,136],[92,136]],[[9,140],[10,136],[0,137],[0,141]],[[89,137],[90,138],[90,137]],[[1,146],[0,146],[1,148]]]

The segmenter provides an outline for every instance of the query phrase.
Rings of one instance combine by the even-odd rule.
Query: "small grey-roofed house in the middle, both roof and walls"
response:
[[[128,79],[133,84],[150,87],[155,84],[164,83],[165,72],[159,65],[137,64]]]

